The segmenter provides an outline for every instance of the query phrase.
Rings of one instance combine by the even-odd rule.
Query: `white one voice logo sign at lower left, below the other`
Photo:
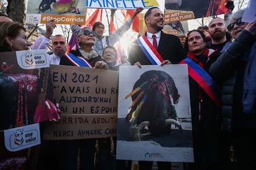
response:
[[[39,123],[4,131],[4,145],[10,152],[16,152],[40,144]]]

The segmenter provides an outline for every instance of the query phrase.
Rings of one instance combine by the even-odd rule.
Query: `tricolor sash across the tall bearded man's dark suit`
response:
[[[138,44],[140,45],[140,48],[144,52],[144,54],[147,56],[148,60],[152,63],[152,65],[160,65],[163,62],[162,56],[156,51],[155,47],[148,41],[145,34],[140,36],[137,39]]]

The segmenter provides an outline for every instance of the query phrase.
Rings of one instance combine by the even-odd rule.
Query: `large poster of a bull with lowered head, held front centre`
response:
[[[187,65],[119,68],[116,158],[194,161]]]

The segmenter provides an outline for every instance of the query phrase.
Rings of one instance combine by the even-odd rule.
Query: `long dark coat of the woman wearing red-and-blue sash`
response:
[[[207,49],[197,56],[190,52],[190,59],[194,60],[206,72],[211,64],[220,56],[218,51]],[[183,62],[181,62],[183,63]],[[195,75],[189,69],[189,75]],[[202,76],[202,75],[201,75]],[[190,106],[192,116],[192,136],[195,164],[190,164],[189,169],[209,169],[212,163],[218,162],[218,145],[220,139],[220,106],[211,99],[192,76],[189,76]],[[218,94],[217,94],[218,95]],[[205,163],[205,166],[203,166]]]

